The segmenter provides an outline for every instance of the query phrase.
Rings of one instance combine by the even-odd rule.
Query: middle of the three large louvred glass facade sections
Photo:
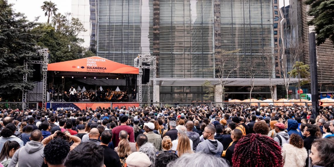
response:
[[[214,77],[213,38],[212,0],[161,0],[160,77]]]

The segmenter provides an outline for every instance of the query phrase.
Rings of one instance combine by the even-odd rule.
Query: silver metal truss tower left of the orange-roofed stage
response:
[[[45,109],[46,105],[46,74],[47,74],[47,64],[49,63],[49,50],[47,48],[39,49],[37,53],[41,56],[41,60],[24,60],[23,65],[24,69],[28,70],[28,64],[41,64],[43,72],[43,97],[42,97],[42,108]],[[27,82],[28,73],[23,75],[23,82]],[[22,90],[22,109],[27,109],[28,106],[25,106],[25,103],[29,102],[28,90]],[[38,108],[38,106],[36,106]]]

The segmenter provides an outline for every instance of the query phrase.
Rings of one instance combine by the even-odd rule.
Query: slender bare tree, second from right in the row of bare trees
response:
[[[275,57],[279,56],[277,53],[275,53],[276,48],[272,47],[265,47],[263,49],[263,57],[264,57],[264,67],[265,70],[268,72],[269,77],[269,88],[270,88],[270,94],[272,99],[274,99],[274,88],[272,84],[272,77],[275,75]]]

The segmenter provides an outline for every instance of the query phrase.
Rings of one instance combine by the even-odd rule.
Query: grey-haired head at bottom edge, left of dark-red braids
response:
[[[228,167],[228,163],[216,156],[210,154],[205,154],[201,152],[196,152],[194,154],[184,154],[182,157],[178,158],[175,161],[170,162],[167,167]]]

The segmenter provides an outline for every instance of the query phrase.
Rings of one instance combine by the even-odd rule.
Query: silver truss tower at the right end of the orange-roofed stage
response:
[[[138,57],[134,59],[134,67],[139,68],[139,74],[138,74],[138,102],[141,103],[142,98],[142,77],[143,77],[143,69],[150,69],[150,73],[152,72],[152,80],[153,80],[153,102],[157,102],[157,62],[156,62],[156,56],[151,56],[150,53],[145,54],[138,54]],[[150,65],[143,65],[143,63],[148,63]],[[147,98],[148,102],[151,102],[150,100],[150,81],[147,82]]]

